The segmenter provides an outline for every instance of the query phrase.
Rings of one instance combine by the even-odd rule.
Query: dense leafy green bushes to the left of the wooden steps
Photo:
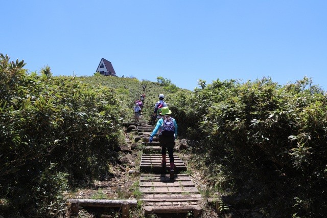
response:
[[[124,110],[113,89],[22,67],[1,55],[0,213],[58,214],[63,191],[116,161]]]

